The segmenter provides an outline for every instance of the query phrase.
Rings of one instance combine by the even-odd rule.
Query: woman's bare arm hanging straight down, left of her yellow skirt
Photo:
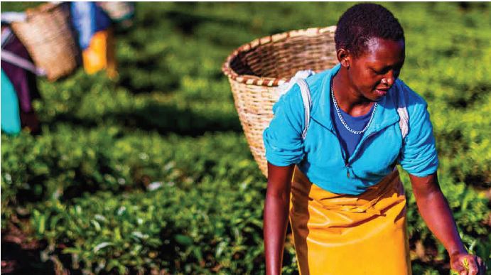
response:
[[[281,274],[294,167],[294,165],[274,166],[268,162],[268,188],[264,203],[263,225],[267,275]]]

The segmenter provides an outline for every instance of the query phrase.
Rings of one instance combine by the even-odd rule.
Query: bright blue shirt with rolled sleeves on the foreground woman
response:
[[[387,176],[396,163],[414,176],[428,176],[438,168],[433,127],[424,99],[396,80],[379,100],[372,124],[347,161],[342,157],[330,107],[330,80],[340,65],[308,77],[311,122],[306,138],[305,112],[298,85],[276,104],[274,118],[264,130],[266,159],[275,166],[298,164],[315,185],[338,194],[359,195]],[[409,134],[402,141],[395,98],[404,96],[409,113]]]

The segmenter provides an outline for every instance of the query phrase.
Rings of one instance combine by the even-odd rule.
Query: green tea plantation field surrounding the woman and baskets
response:
[[[137,3],[134,25],[117,28],[116,80],[82,69],[39,79],[42,133],[1,134],[3,235],[20,230],[51,270],[264,274],[266,179],[220,68],[243,43],[335,25],[351,5]],[[466,247],[491,266],[491,4],[384,6],[406,33],[400,77],[429,105],[441,189]],[[403,180],[414,274],[448,274]],[[297,273],[288,242],[284,274]]]

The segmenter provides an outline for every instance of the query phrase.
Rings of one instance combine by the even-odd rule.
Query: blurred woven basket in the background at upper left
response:
[[[14,21],[11,28],[26,46],[48,80],[70,74],[77,68],[79,50],[70,27],[67,4],[43,4],[26,11],[26,21]]]

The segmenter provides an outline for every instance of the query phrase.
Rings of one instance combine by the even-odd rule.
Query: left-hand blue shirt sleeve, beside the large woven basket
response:
[[[305,110],[298,85],[293,85],[273,106],[274,117],[263,132],[266,159],[275,166],[289,166],[304,156],[302,131]]]

